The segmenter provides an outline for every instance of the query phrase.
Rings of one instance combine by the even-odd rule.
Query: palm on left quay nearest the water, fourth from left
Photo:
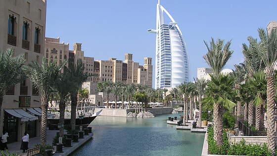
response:
[[[71,98],[71,129],[75,130],[76,128],[76,106],[78,100],[78,91],[81,88],[84,81],[88,78],[88,73],[84,73],[84,64],[81,59],[77,60],[76,64],[69,63],[68,65],[69,75],[71,79],[71,88],[70,98]]]

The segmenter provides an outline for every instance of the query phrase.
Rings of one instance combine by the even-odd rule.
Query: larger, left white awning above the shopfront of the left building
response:
[[[32,114],[27,113],[23,109],[4,109],[7,113],[11,114],[12,116],[18,117],[21,121],[33,121],[37,120],[38,117]]]

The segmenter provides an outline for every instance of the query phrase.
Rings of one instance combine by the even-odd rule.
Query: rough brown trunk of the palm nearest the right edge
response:
[[[275,137],[274,137],[274,76],[267,73],[267,141],[268,148],[271,153],[274,155],[275,153]]]

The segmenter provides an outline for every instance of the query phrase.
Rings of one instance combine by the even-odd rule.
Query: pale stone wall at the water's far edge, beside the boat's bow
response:
[[[123,116],[126,117],[127,114],[135,109],[114,109],[114,108],[95,108],[94,112],[102,109],[99,115],[103,116]]]

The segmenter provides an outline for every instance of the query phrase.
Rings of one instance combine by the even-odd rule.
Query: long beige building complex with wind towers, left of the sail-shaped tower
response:
[[[142,84],[152,87],[153,65],[151,57],[144,57],[144,64],[139,65],[133,61],[133,54],[126,53],[125,59],[118,60],[94,60],[94,57],[84,56],[82,44],[74,43],[73,51],[69,50],[69,44],[60,43],[60,38],[45,38],[45,57],[48,62],[57,60],[61,63],[65,59],[68,62],[76,63],[82,59],[85,65],[85,72],[88,73],[88,82],[124,82]]]

